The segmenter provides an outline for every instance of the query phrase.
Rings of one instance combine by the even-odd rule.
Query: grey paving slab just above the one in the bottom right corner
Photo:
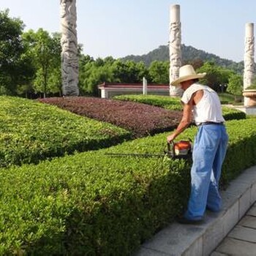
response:
[[[256,222],[256,218],[255,218],[255,222]],[[228,234],[228,237],[256,243],[256,229],[237,225]],[[255,255],[256,255],[256,252],[255,252]]]

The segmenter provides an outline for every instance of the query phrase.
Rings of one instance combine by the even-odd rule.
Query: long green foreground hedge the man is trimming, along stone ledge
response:
[[[225,184],[256,164],[255,118],[227,132]],[[1,169],[0,255],[130,255],[186,206],[191,162],[105,153],[162,153],[166,136]]]

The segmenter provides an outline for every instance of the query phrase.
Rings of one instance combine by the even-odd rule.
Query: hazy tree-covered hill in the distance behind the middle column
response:
[[[215,54],[207,53],[204,50],[198,50],[192,46],[181,45],[181,54],[182,61],[184,63],[200,59],[202,61],[214,61],[214,63],[221,67],[233,69],[241,74],[244,71],[244,61],[235,62],[228,59],[222,59]],[[135,62],[143,61],[147,66],[149,66],[152,61],[169,61],[169,48],[167,45],[160,45],[159,48],[151,50],[147,54],[143,54],[141,56],[129,55],[122,58],[121,60],[132,60]]]

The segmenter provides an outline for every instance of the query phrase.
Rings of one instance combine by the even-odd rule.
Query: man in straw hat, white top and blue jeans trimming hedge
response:
[[[227,132],[222,116],[222,108],[217,93],[208,86],[200,85],[199,78],[206,73],[196,74],[191,65],[179,69],[179,78],[173,80],[173,86],[181,86],[184,94],[183,116],[177,129],[169,136],[171,143],[192,122],[192,116],[198,127],[192,151],[191,192],[187,211],[178,222],[194,224],[203,221],[206,208],[219,211],[222,200],[219,195],[219,178],[222,162],[227,150]]]

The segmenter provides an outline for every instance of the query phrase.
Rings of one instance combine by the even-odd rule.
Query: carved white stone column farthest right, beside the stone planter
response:
[[[244,46],[244,90],[252,84],[255,75],[255,37],[254,23],[245,24],[245,46]],[[248,103],[244,97],[244,106]]]

